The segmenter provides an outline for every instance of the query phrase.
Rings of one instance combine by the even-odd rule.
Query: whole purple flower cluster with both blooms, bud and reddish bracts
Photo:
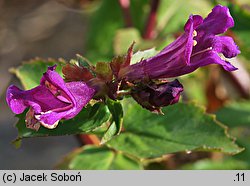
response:
[[[55,66],[44,73],[40,85],[27,91],[11,85],[6,100],[11,110],[20,114],[26,108],[27,127],[38,130],[40,124],[55,128],[61,119],[71,119],[91,100],[122,99],[132,96],[142,107],[160,112],[163,106],[179,101],[183,86],[178,80],[167,81],[193,72],[199,67],[219,64],[227,71],[237,68],[226,58],[240,51],[233,39],[219,36],[233,27],[227,7],[217,5],[203,19],[191,15],[184,33],[157,55],[130,65],[133,44],[127,55],[110,63],[71,65],[63,68],[64,78]]]

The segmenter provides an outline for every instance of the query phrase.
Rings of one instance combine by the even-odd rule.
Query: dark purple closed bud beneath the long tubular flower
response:
[[[139,84],[132,89],[132,97],[144,108],[160,113],[160,108],[179,101],[183,86],[176,79],[172,82]]]

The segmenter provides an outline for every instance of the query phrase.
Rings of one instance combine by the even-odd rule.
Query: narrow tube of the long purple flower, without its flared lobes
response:
[[[188,34],[181,35],[157,55],[122,69],[119,77],[129,81],[175,77],[176,67],[187,65],[184,53]]]

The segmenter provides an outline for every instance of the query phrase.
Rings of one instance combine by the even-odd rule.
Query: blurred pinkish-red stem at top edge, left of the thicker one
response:
[[[133,27],[132,17],[130,14],[130,0],[119,0],[119,4],[122,9],[125,26]]]

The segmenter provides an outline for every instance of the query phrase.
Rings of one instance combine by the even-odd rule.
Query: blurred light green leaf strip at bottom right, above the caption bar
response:
[[[181,167],[184,170],[247,170],[248,164],[234,158],[222,160],[204,159]]]

